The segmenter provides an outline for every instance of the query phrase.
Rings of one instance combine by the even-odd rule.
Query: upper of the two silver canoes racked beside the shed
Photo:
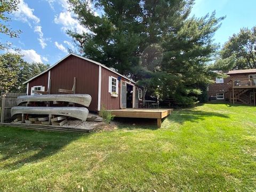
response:
[[[42,95],[20,95],[17,97],[17,105],[23,102],[38,101],[65,101],[73,102],[89,107],[92,97],[89,94],[42,94]]]

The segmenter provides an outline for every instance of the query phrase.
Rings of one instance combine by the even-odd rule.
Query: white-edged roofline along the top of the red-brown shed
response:
[[[117,74],[117,75],[119,75],[119,76],[121,76],[121,77],[126,78],[127,80],[131,81],[132,83],[135,83],[132,79],[129,79],[129,78],[125,77],[124,75],[121,75],[121,74],[117,73],[117,72],[114,71],[113,69],[110,69],[110,68],[106,67],[105,65],[103,65],[103,64],[101,64],[101,63],[99,63],[99,62],[97,62],[97,61],[93,61],[93,60],[91,60],[91,59],[87,59],[87,58],[82,57],[81,55],[78,55],[78,54],[75,54],[75,53],[70,53],[70,54],[68,54],[66,57],[62,58],[62,59],[59,60],[57,63],[55,63],[54,65],[52,65],[51,67],[49,67],[48,69],[42,71],[41,73],[37,74],[37,75],[34,76],[34,77],[31,77],[30,79],[28,79],[26,82],[23,83],[23,85],[26,84],[26,83],[28,83],[28,82],[30,82],[30,81],[33,80],[34,78],[36,78],[36,77],[38,77],[38,76],[40,76],[40,75],[46,73],[47,71],[51,70],[51,68],[57,66],[61,61],[63,61],[64,59],[68,58],[70,55],[74,55],[75,57],[84,59],[84,60],[86,60],[86,61],[90,61],[90,62],[92,62],[92,63],[94,63],[94,64],[96,64],[96,65],[99,65],[99,66],[101,66],[101,67],[104,67],[104,68],[106,68],[106,69],[112,71],[113,73],[115,73],[115,74]]]

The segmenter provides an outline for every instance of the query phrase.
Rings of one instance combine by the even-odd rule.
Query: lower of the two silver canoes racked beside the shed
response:
[[[86,121],[89,111],[85,107],[12,107],[11,115],[35,114],[35,115],[64,115]]]

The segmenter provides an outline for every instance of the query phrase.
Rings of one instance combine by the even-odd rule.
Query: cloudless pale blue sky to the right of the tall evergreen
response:
[[[240,28],[256,26],[255,7],[255,0],[196,0],[191,15],[203,17],[215,10],[217,17],[226,16],[214,35],[214,42],[223,45]]]

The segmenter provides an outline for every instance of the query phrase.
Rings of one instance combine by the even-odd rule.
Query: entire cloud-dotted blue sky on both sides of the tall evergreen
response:
[[[215,43],[223,45],[240,28],[256,26],[255,7],[256,0],[196,0],[191,15],[204,17],[215,10],[217,17],[226,16],[213,37]],[[28,62],[53,65],[68,54],[68,49],[74,49],[66,30],[87,30],[72,16],[67,0],[20,0],[19,10],[11,15],[10,27],[22,33],[19,38],[0,34],[1,42],[11,42]]]

